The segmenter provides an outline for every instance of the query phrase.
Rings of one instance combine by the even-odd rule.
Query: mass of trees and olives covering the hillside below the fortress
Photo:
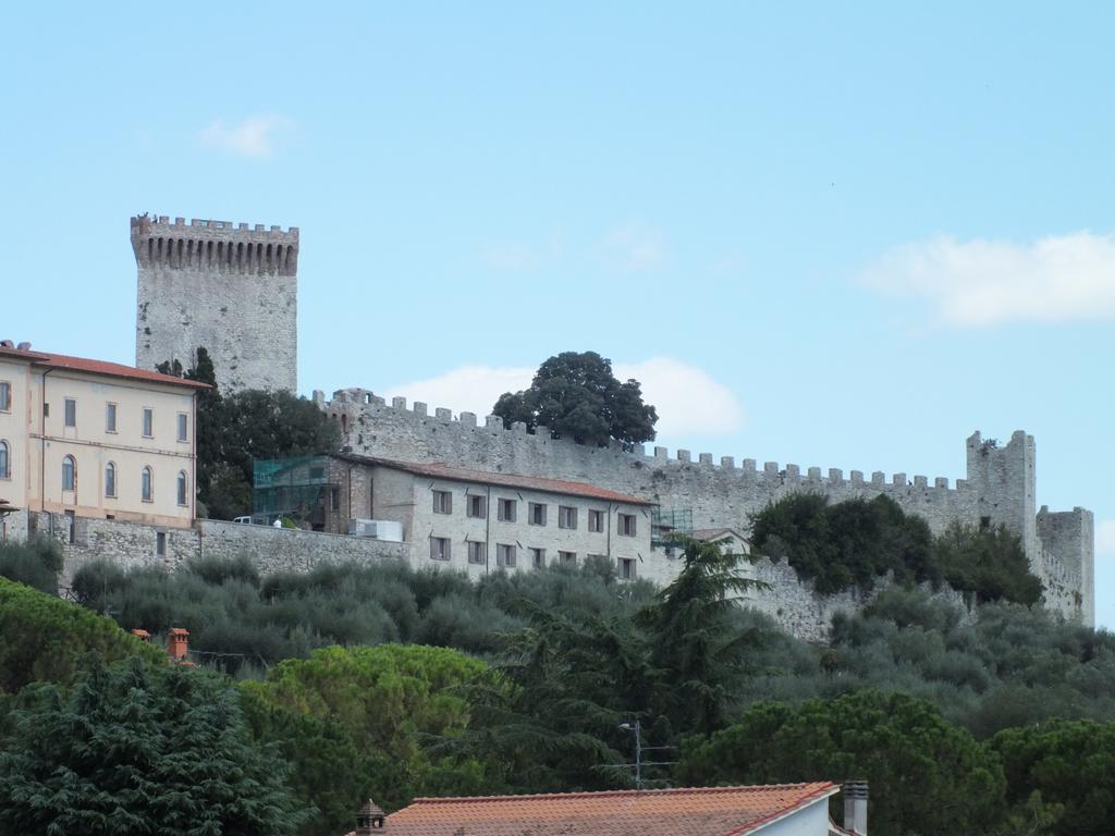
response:
[[[646,767],[650,786],[866,778],[882,836],[1106,832],[1113,636],[1005,596],[968,613],[894,587],[812,645],[734,603],[740,560],[688,543],[663,590],[619,582],[605,562],[473,583],[400,563],[261,576],[244,561],[171,574],[94,563],[75,589],[120,628],[187,628],[195,659],[240,680],[230,751],[244,756],[234,740],[250,733],[258,762],[281,755],[285,800],[272,785],[261,798],[308,810],[306,836],[343,832],[368,795],[395,808],[417,794],[631,786],[621,723],[637,719],[643,746],[675,761]],[[64,683],[56,706],[75,675],[88,687],[76,649],[153,650],[77,605],[3,589],[17,602],[6,636],[31,635],[41,607],[72,613],[52,622],[71,661],[32,674]],[[0,766],[71,757],[18,731],[39,722],[20,712],[40,686],[7,675],[20,707],[0,723]]]

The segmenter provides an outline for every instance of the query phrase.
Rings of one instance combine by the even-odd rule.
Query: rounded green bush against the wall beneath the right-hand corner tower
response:
[[[1005,525],[977,528],[953,522],[933,544],[944,580],[980,601],[1014,601],[1027,606],[1041,600],[1041,581],[1030,572],[1022,542]]]

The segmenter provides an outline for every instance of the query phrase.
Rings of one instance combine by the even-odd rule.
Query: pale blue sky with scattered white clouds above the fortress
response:
[[[1115,626],[1111,7],[318,6],[0,11],[0,336],[130,361],[130,215],[295,225],[304,393],[593,349],[717,457],[1025,429]]]

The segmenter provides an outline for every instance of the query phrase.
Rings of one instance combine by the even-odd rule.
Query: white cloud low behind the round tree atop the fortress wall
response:
[[[642,385],[643,400],[658,409],[659,435],[730,432],[744,424],[744,409],[735,395],[708,373],[668,357],[612,366],[620,380],[634,378]],[[486,416],[501,395],[531,385],[534,369],[465,366],[426,380],[415,380],[387,391],[434,407]]]

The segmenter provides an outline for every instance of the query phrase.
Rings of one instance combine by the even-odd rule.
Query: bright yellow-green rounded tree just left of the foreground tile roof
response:
[[[502,786],[498,765],[433,748],[469,728],[473,686],[508,694],[487,664],[457,651],[381,644],[317,650],[241,689],[254,732],[280,745],[293,764],[293,786],[322,811],[307,833],[328,834],[369,794],[395,808],[415,795]]]

